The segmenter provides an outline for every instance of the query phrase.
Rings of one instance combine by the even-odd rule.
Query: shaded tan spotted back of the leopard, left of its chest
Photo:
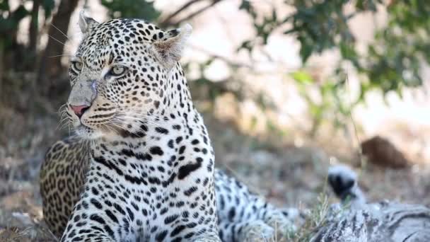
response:
[[[88,142],[69,137],[55,142],[40,168],[40,194],[45,221],[60,237],[79,200],[88,170]]]

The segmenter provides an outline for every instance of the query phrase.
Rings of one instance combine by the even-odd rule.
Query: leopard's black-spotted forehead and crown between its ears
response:
[[[117,18],[100,23],[92,28],[78,47],[77,54],[85,55],[103,52],[106,49],[118,49],[124,46],[151,44],[166,40],[171,31],[166,33],[156,25],[135,18]],[[91,50],[91,51],[90,51]]]

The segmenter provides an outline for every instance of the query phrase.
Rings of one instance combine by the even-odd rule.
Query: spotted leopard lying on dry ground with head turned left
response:
[[[60,241],[267,241],[294,228],[278,208],[214,166],[180,65],[191,25],[83,12],[64,106],[74,135],[40,171],[45,221]]]

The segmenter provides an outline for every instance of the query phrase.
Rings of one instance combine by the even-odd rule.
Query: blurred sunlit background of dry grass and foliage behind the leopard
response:
[[[273,202],[312,206],[347,163],[371,200],[430,204],[426,1],[0,0],[0,231],[42,219],[82,9],[193,26],[181,62],[216,163]]]

